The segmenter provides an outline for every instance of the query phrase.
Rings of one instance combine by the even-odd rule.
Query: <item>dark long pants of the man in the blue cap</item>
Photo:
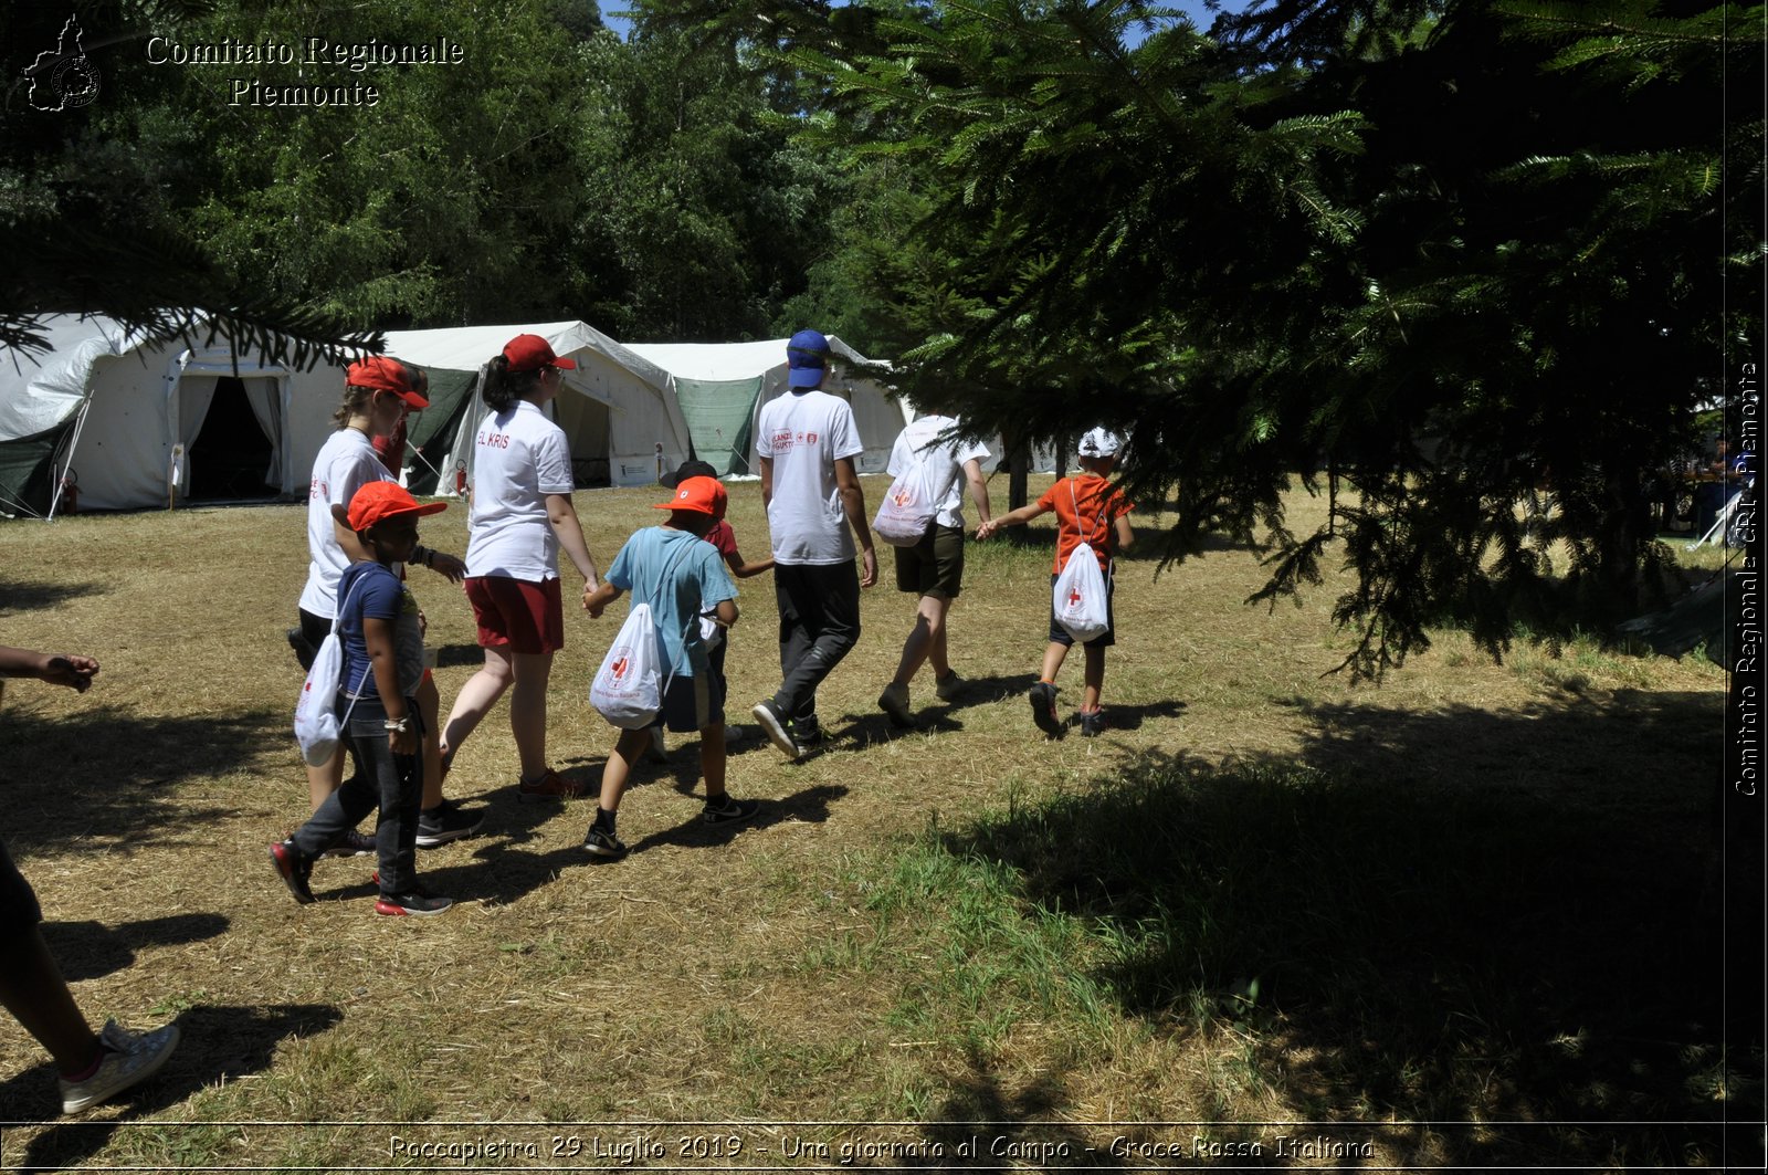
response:
[[[774,564],[780,603],[780,692],[774,706],[817,729],[817,687],[859,642],[859,570],[852,563]]]

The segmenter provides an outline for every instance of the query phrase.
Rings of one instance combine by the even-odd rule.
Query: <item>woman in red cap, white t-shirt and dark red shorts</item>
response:
[[[467,518],[467,598],[479,625],[484,667],[476,672],[442,727],[444,764],[511,685],[509,726],[516,736],[523,800],[573,796],[580,784],[546,764],[546,680],[564,648],[559,584],[562,549],[583,577],[583,598],[599,588],[596,561],[571,506],[571,446],[541,411],[564,386],[560,359],[539,334],[518,334],[486,365],[484,403],[472,464]],[[446,770],[446,766],[444,766]]]

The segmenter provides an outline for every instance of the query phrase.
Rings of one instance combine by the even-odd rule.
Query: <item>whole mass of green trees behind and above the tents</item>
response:
[[[168,306],[322,349],[587,319],[817,324],[1018,446],[1133,434],[1170,552],[1342,552],[1379,674],[1467,625],[1605,626],[1671,588],[1648,524],[1759,357],[1761,5],[1266,0],[78,0],[0,14],[9,345]],[[69,16],[97,97],[19,81]],[[161,35],[463,46],[458,65],[154,65]],[[230,104],[373,81],[375,106]],[[1292,534],[1280,490],[1331,495]],[[1519,508],[1535,495],[1551,510]]]

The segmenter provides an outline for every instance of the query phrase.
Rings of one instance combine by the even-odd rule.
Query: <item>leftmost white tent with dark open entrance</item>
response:
[[[302,372],[225,340],[143,343],[110,319],[57,315],[44,334],[48,352],[9,352],[0,365],[5,513],[53,517],[69,481],[83,510],[166,504],[173,488],[180,501],[193,488],[198,497],[295,494],[343,389],[336,366]]]

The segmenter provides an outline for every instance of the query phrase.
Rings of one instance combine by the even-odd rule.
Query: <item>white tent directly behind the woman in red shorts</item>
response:
[[[578,485],[652,485],[688,457],[688,423],[667,372],[587,322],[467,326],[437,331],[389,331],[387,354],[423,368],[477,372],[516,334],[539,334],[553,354],[576,361],[566,389],[552,402],[553,419],[571,441]],[[472,441],[484,419],[477,388],[461,416],[442,469],[472,471]],[[444,485],[453,490],[453,483]]]

